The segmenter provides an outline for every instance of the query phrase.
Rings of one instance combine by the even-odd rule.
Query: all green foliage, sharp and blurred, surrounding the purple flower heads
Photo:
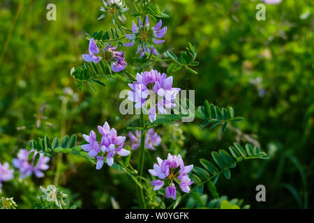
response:
[[[33,208],[40,185],[53,184],[69,190],[77,207],[130,208],[140,206],[134,191],[141,185],[147,208],[248,208],[242,199],[252,208],[313,208],[311,1],[267,5],[265,21],[255,20],[257,1],[126,1],[125,23],[110,13],[97,20],[104,13],[98,10],[102,1],[88,6],[56,1],[57,20],[49,22],[45,4],[0,3],[0,162],[11,167],[19,148],[51,157],[44,178],[21,180],[15,169],[14,179],[2,182],[1,197],[14,196],[17,208]],[[158,45],[160,56],[139,59],[134,47],[122,43],[132,20],[147,14],[153,24],[162,19],[167,34]],[[105,63],[82,61],[90,38],[123,49],[126,69],[112,72]],[[172,75],[174,86],[195,89],[193,122],[181,123],[184,114],[166,114],[154,123],[146,119],[142,127],[140,116],[119,113],[119,91],[137,72],[152,68]],[[80,147],[82,134],[105,120],[125,136],[130,129],[149,128],[162,136],[156,151],[145,151],[143,176],[133,168],[140,151],[116,160],[112,168],[94,169],[96,160]],[[67,134],[77,136],[74,144]],[[147,173],[156,157],[167,153],[195,165],[191,192],[178,192],[176,201],[163,200]],[[270,160],[258,160],[268,155]],[[231,186],[226,180],[236,163]],[[266,203],[255,201],[258,184],[267,188]],[[229,201],[220,194],[241,199]]]

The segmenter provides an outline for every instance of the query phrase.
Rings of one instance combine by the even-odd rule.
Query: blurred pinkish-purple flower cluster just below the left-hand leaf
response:
[[[36,177],[42,178],[45,176],[43,171],[49,169],[47,163],[49,162],[50,157],[43,155],[43,153],[40,153],[38,163],[36,167],[33,167],[33,160],[38,153],[37,151],[34,151],[33,158],[29,162],[29,154],[33,151],[34,150],[27,151],[27,149],[22,148],[19,153],[17,153],[17,158],[13,159],[13,166],[19,169],[23,179],[26,176],[30,176],[32,173],[34,173]]]

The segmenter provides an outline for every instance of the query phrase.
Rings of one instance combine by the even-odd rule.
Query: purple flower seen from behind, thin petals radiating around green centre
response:
[[[158,55],[157,50],[155,49],[153,43],[161,44],[165,42],[165,40],[159,40],[158,38],[163,38],[165,33],[167,32],[167,26],[161,28],[161,20],[159,22],[149,28],[149,17],[146,16],[145,24],[143,26],[141,17],[138,18],[138,26],[133,22],[132,25],[132,34],[126,34],[126,38],[130,40],[129,43],[124,44],[126,47],[132,47],[137,44],[137,52],[140,52],[140,58],[144,55],[144,53]],[[160,29],[161,28],[161,29]]]

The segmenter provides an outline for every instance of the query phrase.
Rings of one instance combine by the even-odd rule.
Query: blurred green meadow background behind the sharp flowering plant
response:
[[[57,6],[57,20],[47,21],[46,6]],[[128,3],[128,1],[127,1]],[[174,86],[195,89],[195,103],[204,100],[232,106],[245,121],[225,134],[198,130],[199,121],[175,123],[156,130],[163,137],[151,157],[186,151],[186,163],[226,149],[232,141],[251,142],[271,160],[241,163],[232,178],[218,180],[219,194],[244,199],[251,208],[313,208],[314,76],[313,1],[283,0],[266,6],[266,20],[257,21],[248,0],[158,0],[170,18],[165,44],[159,52],[195,46],[199,75],[174,72]],[[79,91],[70,69],[82,64],[87,52],[85,32],[109,29],[111,17],[97,20],[102,1],[2,0],[0,3],[0,162],[10,162],[29,139],[48,134],[82,134],[108,121],[127,135],[130,116],[119,114],[119,92],[126,85],[103,79],[96,93]],[[132,12],[132,8],[130,8]],[[130,18],[130,17],[128,17]],[[132,17],[126,26],[130,27]],[[152,22],[153,23],[153,22]],[[126,50],[126,57],[134,47]],[[165,72],[167,65],[151,68]],[[136,157],[137,151],[133,153]],[[3,193],[15,197],[19,208],[31,208],[39,185],[57,183],[73,194],[81,208],[130,208],[135,185],[126,174],[103,168],[75,155],[63,156],[61,175],[56,158],[45,178],[29,177],[3,183]],[[153,160],[154,161],[154,160]],[[152,167],[149,160],[145,169]],[[19,174],[15,171],[16,178]],[[256,185],[265,185],[267,201],[255,200]],[[3,195],[3,194],[1,194]],[[210,199],[210,196],[209,198]],[[114,204],[114,205],[113,205]]]

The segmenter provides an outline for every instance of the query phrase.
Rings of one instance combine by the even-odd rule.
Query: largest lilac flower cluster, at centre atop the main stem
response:
[[[181,89],[172,88],[173,78],[157,70],[137,73],[136,82],[128,84],[132,91],[128,92],[128,99],[135,102],[135,109],[140,109],[149,100],[149,90],[154,90],[158,95],[157,108],[160,114],[166,114],[167,109],[174,107],[174,99]],[[154,106],[155,105],[155,106]],[[149,109],[149,120],[156,120],[156,103]]]

